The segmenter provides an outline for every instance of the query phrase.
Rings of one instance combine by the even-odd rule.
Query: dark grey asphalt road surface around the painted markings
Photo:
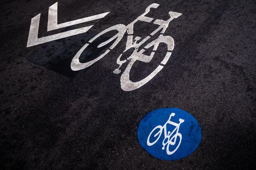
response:
[[[255,168],[255,0],[59,0],[59,23],[110,13],[47,32],[48,7],[55,2],[0,2],[0,169]],[[113,71],[125,40],[93,66],[70,69],[93,36],[129,24],[154,2],[160,6],[149,17],[168,19],[169,11],[182,16],[165,33],[175,41],[171,58],[150,82],[130,92],[120,88],[120,74]],[[94,27],[27,48],[31,18],[39,13],[39,37]],[[154,25],[141,22],[135,34],[146,37],[151,29]],[[160,47],[158,55],[165,50]],[[147,76],[158,62],[138,62],[131,79]],[[189,112],[202,128],[197,150],[177,161],[151,156],[137,139],[140,119],[167,107]]]

